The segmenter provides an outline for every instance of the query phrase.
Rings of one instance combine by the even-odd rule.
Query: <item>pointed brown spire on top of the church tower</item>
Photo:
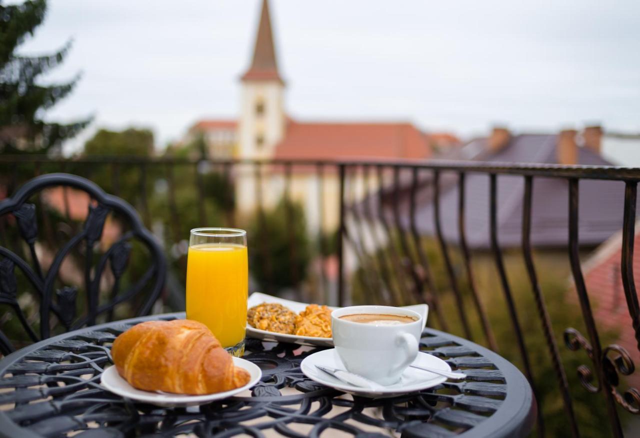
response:
[[[255,49],[251,67],[242,77],[243,81],[280,81],[278,73],[276,51],[273,45],[273,33],[271,31],[271,19],[269,18],[269,2],[262,0],[262,13],[260,24],[255,37]]]

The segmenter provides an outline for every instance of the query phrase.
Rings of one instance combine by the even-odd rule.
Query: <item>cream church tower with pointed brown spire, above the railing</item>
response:
[[[268,159],[285,130],[284,81],[278,72],[268,0],[262,0],[251,66],[242,76],[239,158]]]

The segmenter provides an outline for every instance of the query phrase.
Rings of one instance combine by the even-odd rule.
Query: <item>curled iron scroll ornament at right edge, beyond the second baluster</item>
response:
[[[624,394],[620,394],[616,389],[620,384],[618,373],[628,376],[636,371],[636,365],[627,349],[617,344],[607,346],[602,352],[602,367],[607,382],[611,384],[611,393],[616,402],[632,414],[639,414],[640,392],[636,388],[630,388]]]

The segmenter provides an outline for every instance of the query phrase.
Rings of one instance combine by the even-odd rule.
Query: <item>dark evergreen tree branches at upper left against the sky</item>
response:
[[[28,0],[5,6],[0,1],[0,152],[51,153],[76,135],[89,120],[70,124],[45,122],[44,111],[72,92],[78,77],[42,85],[40,76],[60,65],[70,43],[52,54],[23,56],[16,51],[42,24],[47,3]]]

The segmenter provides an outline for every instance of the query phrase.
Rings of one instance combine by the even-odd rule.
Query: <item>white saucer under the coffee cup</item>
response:
[[[451,367],[447,362],[438,357],[432,356],[428,353],[419,352],[418,356],[413,361],[414,365],[429,366],[431,368],[442,369],[443,371],[451,371]],[[407,368],[404,370],[400,381],[393,385],[381,386],[380,389],[371,391],[358,386],[353,386],[341,382],[337,378],[334,378],[323,371],[316,368],[316,365],[327,366],[330,368],[346,369],[340,361],[338,353],[335,348],[329,350],[323,350],[321,352],[313,353],[312,355],[305,357],[300,364],[302,372],[319,384],[329,386],[345,393],[351,393],[362,397],[393,397],[403,395],[407,393],[413,393],[415,391],[421,391],[422,389],[428,389],[436,385],[440,385],[447,380],[446,377],[429,373],[429,371],[422,371],[422,369]]]

